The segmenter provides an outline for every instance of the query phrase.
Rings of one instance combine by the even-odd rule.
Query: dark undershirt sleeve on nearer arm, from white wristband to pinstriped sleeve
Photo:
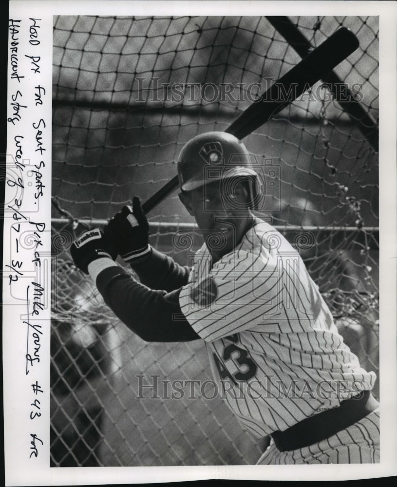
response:
[[[96,286],[114,314],[145,341],[192,341],[200,338],[182,314],[180,289],[153,291],[119,266],[104,269]]]

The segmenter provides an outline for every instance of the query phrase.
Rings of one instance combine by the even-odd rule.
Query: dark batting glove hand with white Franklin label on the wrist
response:
[[[86,274],[88,264],[96,259],[110,257],[114,261],[117,257],[117,251],[99,228],[82,233],[73,242],[70,253],[76,266]]]

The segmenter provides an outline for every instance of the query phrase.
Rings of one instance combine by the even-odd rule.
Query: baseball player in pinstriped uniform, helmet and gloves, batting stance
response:
[[[254,216],[263,182],[245,146],[225,132],[198,135],[178,176],[204,238],[192,268],[151,247],[136,197],[74,242],[76,266],[144,340],[204,340],[221,397],[272,438],[258,464],[378,462],[376,376],[343,342],[297,251]]]

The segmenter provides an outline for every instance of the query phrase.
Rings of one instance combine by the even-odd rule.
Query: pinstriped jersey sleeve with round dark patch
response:
[[[283,314],[283,274],[274,256],[240,250],[182,288],[181,310],[206,341],[277,321]]]

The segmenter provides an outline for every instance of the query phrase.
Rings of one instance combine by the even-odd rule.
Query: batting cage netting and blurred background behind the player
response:
[[[378,373],[378,18],[54,19],[51,465],[259,458],[265,440],[214,391],[202,342],[132,334],[68,249],[133,196],[145,201],[190,138],[224,131],[340,26],[359,48],[244,142],[266,186],[258,216],[301,252],[345,341]],[[148,219],[152,246],[186,265],[200,242],[177,192]]]

